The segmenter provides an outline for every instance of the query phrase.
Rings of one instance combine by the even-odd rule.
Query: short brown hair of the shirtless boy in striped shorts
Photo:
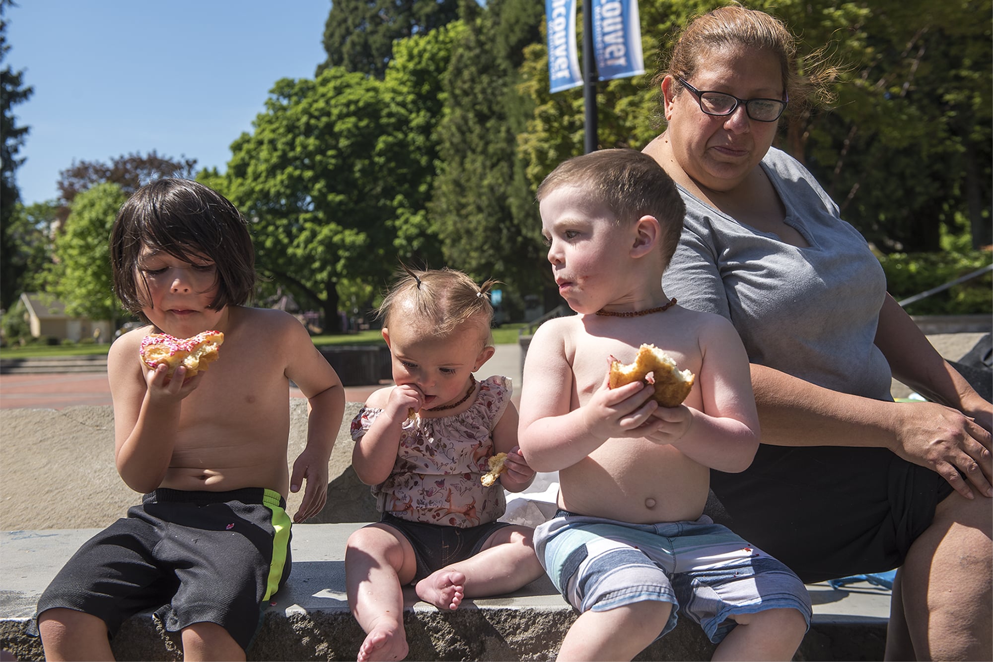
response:
[[[544,178],[535,197],[541,202],[562,186],[576,186],[602,202],[618,224],[654,216],[662,236],[660,256],[667,267],[682,233],[686,205],[672,178],[654,159],[637,150],[598,150],[559,164]]]

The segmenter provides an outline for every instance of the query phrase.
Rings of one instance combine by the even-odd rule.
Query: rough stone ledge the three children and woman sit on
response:
[[[266,608],[249,660],[355,659],[364,634],[345,595],[345,542],[362,524],[303,524],[293,529],[293,573]],[[41,592],[76,548],[98,529],[0,533],[4,586],[0,641],[20,660],[42,660],[26,628]],[[890,594],[868,584],[808,587],[814,622],[795,660],[881,660]],[[506,597],[466,601],[457,611],[417,602],[408,588],[404,622],[411,660],[553,659],[575,613],[542,578]],[[150,614],[134,616],[112,643],[117,659],[181,660],[179,639]],[[688,618],[638,660],[709,660],[714,646]]]

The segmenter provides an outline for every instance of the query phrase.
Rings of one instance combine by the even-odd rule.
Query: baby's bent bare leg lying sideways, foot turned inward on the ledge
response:
[[[417,596],[440,609],[454,609],[462,602],[460,593],[466,598],[498,596],[533,582],[544,570],[534,555],[532,534],[533,530],[526,526],[498,529],[476,556],[446,566],[418,582]]]

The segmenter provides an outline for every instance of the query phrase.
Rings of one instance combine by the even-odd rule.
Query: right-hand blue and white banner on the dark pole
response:
[[[638,0],[586,2],[593,4],[593,54],[596,56],[600,80],[627,78],[644,73]],[[551,30],[548,34],[550,43]],[[550,70],[551,58],[548,62]]]

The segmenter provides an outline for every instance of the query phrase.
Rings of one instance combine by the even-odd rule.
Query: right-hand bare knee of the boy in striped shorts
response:
[[[712,660],[791,660],[803,641],[806,620],[796,609],[767,609],[736,616]]]

